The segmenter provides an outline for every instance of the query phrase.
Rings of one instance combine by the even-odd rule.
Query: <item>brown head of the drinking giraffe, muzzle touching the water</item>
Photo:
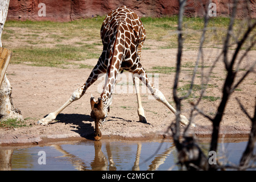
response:
[[[90,117],[92,117],[95,122],[94,139],[100,140],[102,137],[102,134],[101,134],[102,124],[106,121],[106,117],[108,117],[108,114],[106,109],[104,108],[104,104],[100,97],[98,98],[98,101],[96,101],[94,97],[91,97],[90,106],[92,107],[92,111],[90,112]]]

